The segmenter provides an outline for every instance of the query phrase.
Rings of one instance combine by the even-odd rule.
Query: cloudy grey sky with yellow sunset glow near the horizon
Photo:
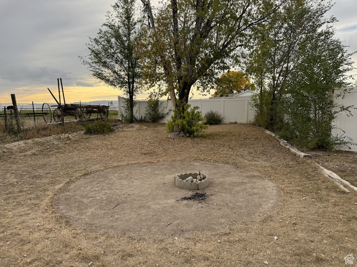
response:
[[[139,0],[138,0],[139,1]],[[151,1],[155,6],[157,0]],[[88,36],[95,37],[114,0],[0,0],[0,103],[52,102],[62,78],[67,103],[117,100],[122,92],[90,77],[78,56],[86,55]],[[337,36],[357,50],[357,1],[336,0]],[[357,55],[352,59],[357,62]],[[357,70],[350,74],[357,74]],[[145,99],[141,94],[138,99]],[[202,98],[197,93],[195,98]]]

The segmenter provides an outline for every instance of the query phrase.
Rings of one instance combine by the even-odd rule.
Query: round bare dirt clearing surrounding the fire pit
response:
[[[174,176],[205,173],[210,179],[202,202],[180,200],[193,194],[177,187]],[[202,192],[199,190],[198,192]],[[230,221],[248,221],[272,208],[276,186],[258,173],[212,162],[136,163],[105,169],[62,188],[60,214],[80,227],[171,235],[218,231]]]

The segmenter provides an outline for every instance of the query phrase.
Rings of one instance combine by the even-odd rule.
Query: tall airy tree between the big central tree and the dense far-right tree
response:
[[[331,7],[325,0],[289,0],[272,20],[254,28],[257,45],[250,51],[247,71],[260,90],[261,103],[266,103],[266,97],[271,98],[267,125],[271,131],[280,120],[278,103],[286,94],[291,73],[305,56],[301,47],[335,21],[325,17]],[[259,107],[258,111],[264,109]]]

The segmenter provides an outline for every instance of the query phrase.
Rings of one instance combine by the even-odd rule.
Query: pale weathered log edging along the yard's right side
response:
[[[283,147],[288,148],[292,153],[294,153],[297,157],[300,158],[311,158],[310,154],[306,154],[303,153],[299,150],[297,150],[295,147],[292,147],[286,140],[280,139],[277,135],[275,135],[274,133],[266,130],[266,133],[268,133],[269,135],[274,136],[278,141],[280,141],[280,145],[282,145]],[[333,180],[333,182],[338,185],[338,187],[340,187],[343,191],[349,193],[351,192],[350,190],[348,190],[345,186],[350,187],[353,191],[357,192],[357,187],[353,186],[352,184],[350,184],[349,182],[347,182],[346,180],[343,180],[340,176],[338,176],[336,173],[329,171],[328,169],[322,167],[320,164],[316,163],[315,164],[321,169],[322,174],[325,175],[326,177],[330,178]]]

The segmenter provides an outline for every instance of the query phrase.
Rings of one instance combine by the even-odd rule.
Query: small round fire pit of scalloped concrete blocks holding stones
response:
[[[200,190],[207,187],[210,182],[205,174],[190,172],[175,176],[175,183],[182,189]]]

